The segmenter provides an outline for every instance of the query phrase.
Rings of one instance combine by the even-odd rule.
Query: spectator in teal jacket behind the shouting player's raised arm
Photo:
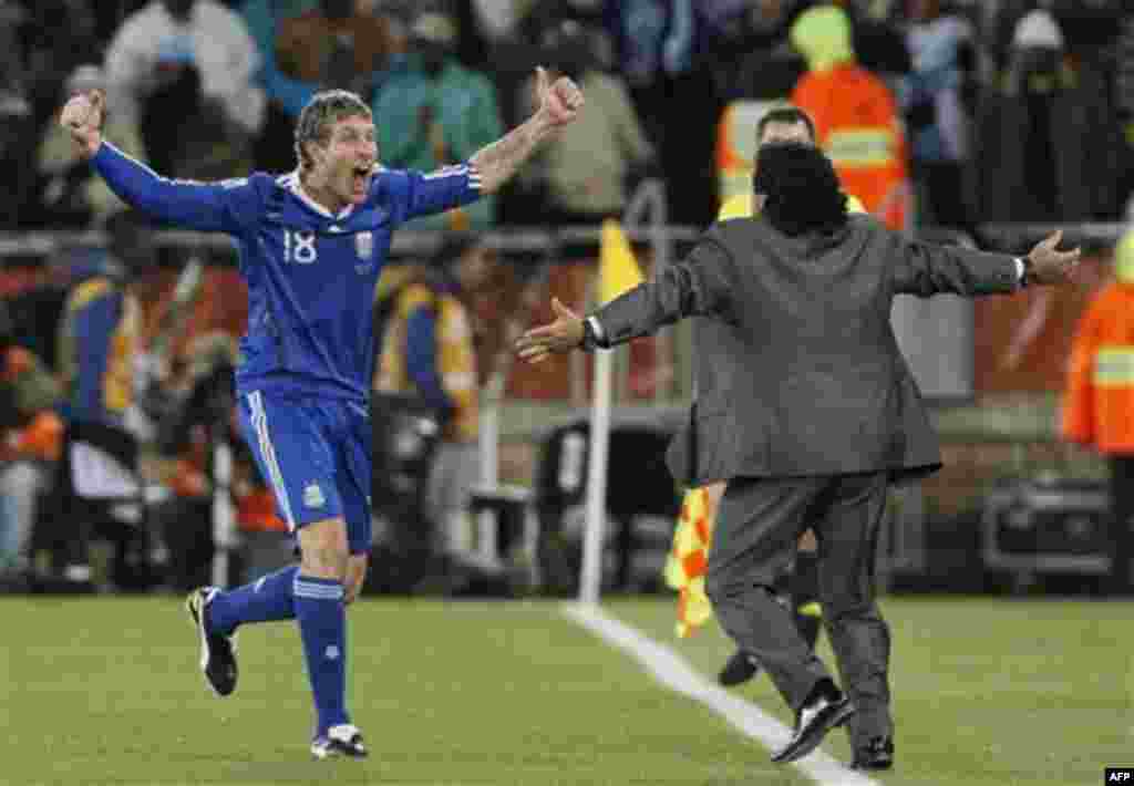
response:
[[[409,56],[373,96],[378,149],[391,168],[431,171],[466,161],[499,138],[500,111],[488,77],[460,65],[457,27],[439,11],[420,14],[409,28]],[[494,197],[423,217],[411,229],[483,229],[494,221]]]

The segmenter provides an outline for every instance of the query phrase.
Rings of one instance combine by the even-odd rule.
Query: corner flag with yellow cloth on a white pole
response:
[[[599,302],[607,304],[642,282],[642,270],[634,259],[621,226],[602,222],[599,253]],[[586,527],[583,532],[583,569],[578,599],[595,605],[602,589],[602,543],[607,514],[607,466],[610,449],[610,407],[615,371],[613,349],[594,353],[594,392],[591,400],[591,445],[587,450]]]

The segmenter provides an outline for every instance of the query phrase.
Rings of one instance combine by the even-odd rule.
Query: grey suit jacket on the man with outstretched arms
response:
[[[790,477],[941,466],[890,328],[894,296],[1018,288],[1016,260],[934,246],[852,215],[788,237],[762,217],[713,225],[683,261],[599,309],[606,346],[697,316],[697,400],[670,443],[674,477]]]

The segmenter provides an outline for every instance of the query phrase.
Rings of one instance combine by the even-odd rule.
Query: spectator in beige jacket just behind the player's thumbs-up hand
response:
[[[524,183],[533,192],[543,189],[543,221],[598,226],[606,218],[620,217],[627,181],[653,162],[654,149],[625,84],[598,67],[585,28],[565,22],[545,36],[544,48],[557,73],[569,76],[586,93],[587,111],[540,151]],[[528,83],[522,101],[527,107],[531,100]]]

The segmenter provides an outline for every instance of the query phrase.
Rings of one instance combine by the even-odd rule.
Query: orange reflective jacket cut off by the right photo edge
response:
[[[1134,284],[1108,285],[1080,320],[1061,429],[1101,453],[1134,454]]]

